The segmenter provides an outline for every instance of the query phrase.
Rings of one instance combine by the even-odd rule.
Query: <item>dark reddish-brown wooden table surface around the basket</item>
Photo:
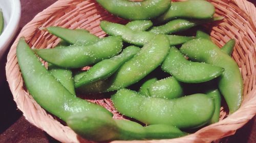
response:
[[[8,1],[8,0],[6,0]],[[19,31],[26,25],[32,18],[56,0],[21,0],[22,4],[22,17],[20,20]],[[251,1],[254,4],[255,1]],[[7,51],[8,52],[8,51]],[[5,63],[7,52],[3,59],[0,60],[0,76],[5,77]],[[20,112],[15,102],[12,99],[11,92],[8,87],[7,81],[0,81],[0,142],[1,143],[53,143],[58,142],[49,136],[46,132],[36,128],[30,124]],[[244,127],[239,129],[236,134],[221,139],[221,142],[243,142],[255,143],[256,142],[256,121],[255,117],[249,121]]]

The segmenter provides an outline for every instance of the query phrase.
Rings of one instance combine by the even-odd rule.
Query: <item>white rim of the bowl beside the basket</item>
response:
[[[9,0],[11,4],[11,16],[8,24],[4,28],[3,33],[0,35],[0,58],[3,56],[4,52],[7,50],[8,45],[12,41],[18,29],[18,24],[21,15],[21,6],[19,0]]]

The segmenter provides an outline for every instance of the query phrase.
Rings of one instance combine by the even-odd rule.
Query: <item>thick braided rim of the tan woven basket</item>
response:
[[[217,0],[212,0],[212,1],[217,1]],[[50,134],[51,136],[53,136],[54,138],[62,141],[62,142],[67,142],[67,140],[70,140],[71,142],[77,142],[77,137],[76,134],[71,130],[64,130],[63,132],[65,132],[66,134],[70,134],[70,136],[66,137],[66,138],[61,138],[58,136],[58,131],[52,131],[52,130],[47,130],[44,126],[42,125],[38,125],[36,123],[36,121],[40,118],[43,118],[44,116],[47,116],[49,119],[48,121],[51,122],[49,126],[63,126],[62,124],[60,124],[58,121],[54,120],[54,118],[52,118],[51,116],[48,115],[48,113],[42,109],[42,108],[38,108],[36,107],[34,104],[37,104],[33,101],[32,97],[26,97],[31,99],[31,102],[26,102],[26,104],[21,104],[20,102],[24,102],[24,97],[28,94],[26,91],[19,91],[20,89],[18,89],[18,87],[23,87],[23,80],[22,78],[20,78],[20,72],[16,75],[15,71],[19,71],[18,65],[16,62],[16,45],[18,42],[18,39],[22,36],[25,36],[26,38],[32,39],[32,35],[33,32],[38,28],[38,23],[40,23],[41,21],[44,21],[45,18],[47,18],[49,15],[51,15],[52,13],[54,13],[54,11],[61,9],[63,7],[67,7],[69,6],[72,2],[83,2],[81,0],[59,0],[56,3],[54,3],[53,5],[51,5],[50,7],[48,7],[47,9],[45,9],[44,11],[38,13],[32,21],[30,21],[28,24],[26,24],[22,31],[20,32],[20,34],[17,36],[15,42],[13,43],[13,45],[11,46],[11,49],[8,53],[8,57],[7,57],[7,64],[6,64],[6,76],[7,76],[7,81],[9,83],[11,92],[13,94],[13,98],[14,101],[17,103],[17,107],[24,113],[25,118],[32,124],[34,124],[35,126],[45,130],[48,134]],[[256,9],[254,7],[254,5],[248,1],[245,0],[231,0],[230,2],[232,2],[233,4],[236,4],[241,10],[244,11],[245,15],[247,17],[250,17],[249,19],[251,21],[248,21],[249,25],[251,25],[251,29],[252,29],[252,35],[254,35],[254,38],[251,37],[252,41],[254,42],[254,45],[256,43],[256,39],[255,39],[255,33],[256,33]],[[224,3],[224,2],[223,2]],[[254,8],[254,9],[253,9]],[[253,14],[254,13],[254,14]],[[254,49],[255,52],[255,49]],[[255,60],[256,61],[256,60]],[[255,68],[255,65],[254,65]],[[254,73],[252,73],[253,75],[256,75],[256,70],[254,70]],[[13,76],[15,75],[15,76]],[[255,82],[252,83],[253,85],[255,85]],[[190,134],[184,137],[180,137],[180,138],[175,138],[175,139],[160,139],[157,140],[157,142],[186,142],[186,141],[195,141],[195,142],[210,142],[212,140],[216,140],[218,138],[222,138],[228,135],[232,135],[236,132],[236,129],[242,127],[245,123],[247,123],[255,114],[256,114],[256,87],[254,87],[250,93],[248,93],[247,96],[251,96],[252,98],[246,102],[245,104],[242,104],[242,106],[240,107],[240,109],[236,112],[234,112],[232,115],[229,115],[226,119],[209,125],[207,127],[204,127],[200,130],[198,130],[196,133],[194,134]],[[20,99],[22,98],[22,99]],[[33,108],[33,110],[37,110],[40,111],[42,113],[44,113],[43,116],[40,117],[36,117],[36,116],[31,116],[31,112],[30,110],[28,110],[28,107],[26,106],[30,106]],[[233,119],[236,119],[236,121],[234,121]],[[225,127],[223,128],[223,130],[219,130],[220,126]],[[236,126],[234,128],[234,126]],[[205,138],[205,136],[210,135],[209,133],[212,133],[212,130],[215,130],[214,135],[212,135],[209,138]],[[55,133],[54,133],[55,132]],[[83,140],[86,141],[86,140]],[[156,142],[156,140],[137,140],[137,141],[112,141],[112,142]]]

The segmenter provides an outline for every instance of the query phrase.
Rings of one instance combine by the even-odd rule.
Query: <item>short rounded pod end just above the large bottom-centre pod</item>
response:
[[[165,99],[179,98],[183,95],[183,89],[179,81],[174,77],[167,77],[151,84],[148,92],[152,97]]]

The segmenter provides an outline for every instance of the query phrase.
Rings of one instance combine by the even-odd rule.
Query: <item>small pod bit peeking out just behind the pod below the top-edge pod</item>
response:
[[[153,26],[153,23],[150,20],[134,20],[130,21],[125,26],[133,31],[146,31]]]

